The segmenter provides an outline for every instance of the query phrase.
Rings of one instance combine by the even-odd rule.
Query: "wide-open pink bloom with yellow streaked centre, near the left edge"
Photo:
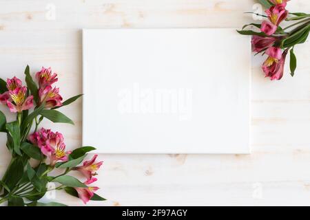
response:
[[[11,112],[21,112],[33,107],[33,96],[27,97],[27,87],[17,87],[13,91],[9,91],[9,94],[14,102],[6,101]]]

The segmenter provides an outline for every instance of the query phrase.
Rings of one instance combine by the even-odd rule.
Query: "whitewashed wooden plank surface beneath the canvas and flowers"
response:
[[[32,72],[51,66],[61,94],[70,98],[82,91],[82,28],[240,28],[253,21],[242,12],[254,3],[0,0],[0,76],[22,77],[27,64]],[[290,1],[288,8],[309,12],[310,2]],[[309,41],[296,47],[296,76],[287,69],[280,82],[264,78],[262,58],[253,58],[251,155],[99,155],[104,165],[97,186],[108,200],[88,205],[310,205],[309,49]],[[68,148],[81,145],[81,104],[62,109],[76,126],[43,124],[63,132]],[[1,134],[0,175],[10,159],[5,141]],[[63,192],[55,200],[83,205]]]

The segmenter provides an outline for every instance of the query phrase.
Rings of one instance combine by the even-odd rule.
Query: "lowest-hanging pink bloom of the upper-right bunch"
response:
[[[265,72],[266,77],[270,77],[271,80],[280,80],[284,72],[287,51],[281,53],[280,48],[271,47],[271,50],[267,50],[266,54],[269,57],[263,63],[262,70]]]

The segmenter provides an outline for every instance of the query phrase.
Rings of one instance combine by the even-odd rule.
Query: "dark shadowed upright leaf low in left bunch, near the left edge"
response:
[[[15,157],[12,164],[10,164],[8,168],[8,175],[5,181],[10,190],[12,190],[12,188],[17,185],[21,177],[23,177],[23,167],[23,158]]]

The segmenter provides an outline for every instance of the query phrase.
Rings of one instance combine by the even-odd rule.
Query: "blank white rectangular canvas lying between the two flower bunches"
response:
[[[236,30],[83,30],[83,144],[249,153],[250,77],[250,39]]]

